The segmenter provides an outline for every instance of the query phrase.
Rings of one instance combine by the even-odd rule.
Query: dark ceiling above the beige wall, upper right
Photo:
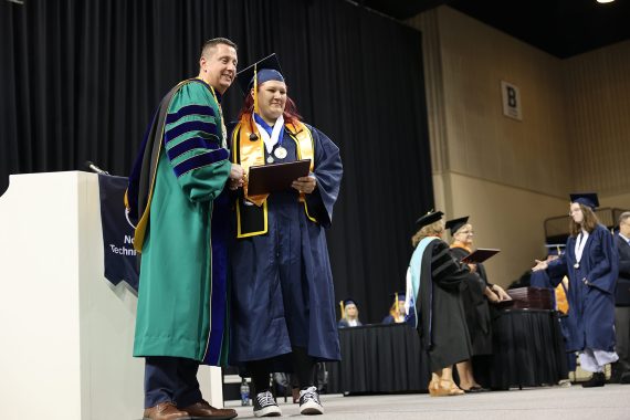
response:
[[[398,20],[447,4],[560,59],[630,39],[630,1],[365,0]]]

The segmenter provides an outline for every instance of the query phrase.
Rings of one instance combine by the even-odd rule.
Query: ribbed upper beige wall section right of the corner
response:
[[[630,41],[566,60],[563,74],[574,188],[630,192]]]

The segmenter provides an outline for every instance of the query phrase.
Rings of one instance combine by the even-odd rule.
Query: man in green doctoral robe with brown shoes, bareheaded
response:
[[[221,95],[237,70],[237,45],[203,45],[197,78],[161,101],[129,177],[134,246],[141,252],[134,356],[145,357],[145,419],[231,419],[202,399],[199,364],[222,365],[228,354],[228,179],[230,162]]]

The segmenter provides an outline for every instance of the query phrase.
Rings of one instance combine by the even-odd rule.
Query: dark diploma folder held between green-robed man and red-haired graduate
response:
[[[248,195],[258,196],[285,191],[300,177],[306,177],[311,169],[311,159],[285,164],[260,165],[250,167]]]

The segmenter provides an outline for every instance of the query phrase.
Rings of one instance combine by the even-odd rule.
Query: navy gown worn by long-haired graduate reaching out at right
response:
[[[575,255],[576,238],[569,237],[565,254],[549,263],[553,286],[568,274],[569,313],[567,350],[615,349],[615,285],[619,260],[612,234],[598,224],[590,232],[579,267]],[[586,279],[588,284],[582,280]]]

